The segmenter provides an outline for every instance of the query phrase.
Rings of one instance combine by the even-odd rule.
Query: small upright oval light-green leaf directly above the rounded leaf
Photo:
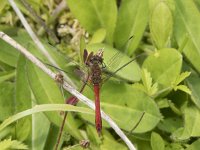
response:
[[[172,33],[172,14],[165,2],[159,2],[152,11],[150,31],[158,49],[167,47]]]

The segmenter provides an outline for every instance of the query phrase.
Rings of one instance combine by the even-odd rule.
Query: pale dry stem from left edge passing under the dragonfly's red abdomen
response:
[[[21,52],[27,59],[29,59],[32,63],[38,66],[41,70],[43,70],[46,74],[48,74],[52,79],[55,80],[56,74],[52,72],[49,68],[47,68],[39,59],[37,59],[34,55],[32,55],[27,49],[22,47],[8,35],[0,31],[0,38],[3,39],[5,42],[9,43],[11,46],[16,48],[19,52]],[[81,102],[86,104],[88,107],[95,110],[94,102],[90,99],[79,93],[76,89],[70,86],[66,81],[63,82],[63,88],[70,92],[72,95],[77,97]],[[117,126],[117,124],[103,111],[101,111],[101,116],[103,119],[107,121],[107,123],[115,130],[115,132],[121,137],[121,139],[127,144],[130,150],[136,150],[134,145],[128,139],[128,137],[122,132],[122,130]]]

